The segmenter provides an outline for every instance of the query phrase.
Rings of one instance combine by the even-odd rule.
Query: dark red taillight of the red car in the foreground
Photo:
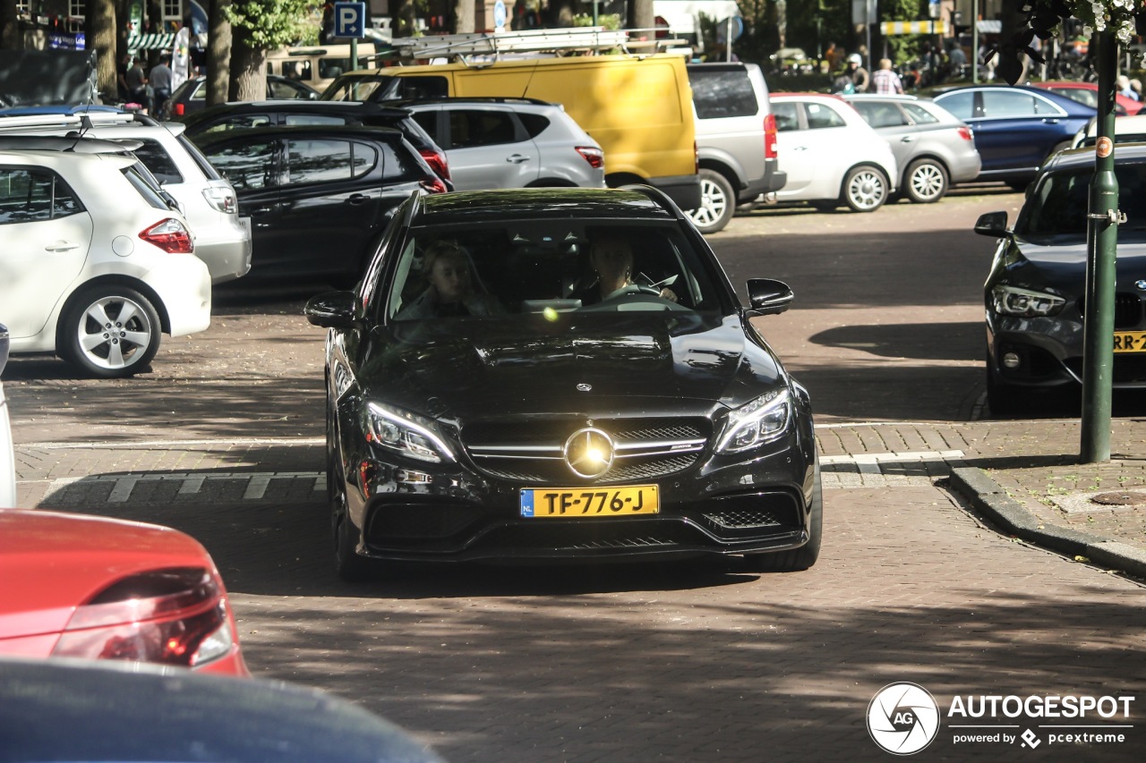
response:
[[[77,607],[52,654],[188,668],[212,662],[235,644],[222,591],[202,568],[133,575]]]

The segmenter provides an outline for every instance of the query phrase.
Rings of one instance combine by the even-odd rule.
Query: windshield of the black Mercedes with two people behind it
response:
[[[729,307],[705,253],[673,223],[415,228],[391,273],[385,318],[397,321]]]

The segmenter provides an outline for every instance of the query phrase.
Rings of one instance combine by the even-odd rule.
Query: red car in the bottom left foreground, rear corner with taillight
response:
[[[214,563],[157,525],[0,509],[0,655],[249,676]]]

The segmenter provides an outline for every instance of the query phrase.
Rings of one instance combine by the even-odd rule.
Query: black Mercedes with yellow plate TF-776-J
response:
[[[787,308],[786,285],[749,280],[741,306],[649,187],[415,196],[395,220],[356,291],[306,307],[330,330],[343,577],[399,559],[816,561],[808,393],[748,324]]]

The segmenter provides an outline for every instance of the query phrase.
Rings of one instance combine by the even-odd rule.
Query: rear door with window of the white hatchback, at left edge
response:
[[[92,245],[92,218],[54,172],[0,165],[0,323],[39,333]]]

